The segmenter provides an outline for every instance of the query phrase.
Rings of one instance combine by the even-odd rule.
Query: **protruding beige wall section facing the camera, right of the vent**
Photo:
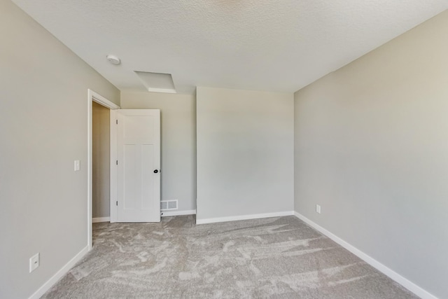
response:
[[[293,211],[293,94],[197,88],[197,220]]]

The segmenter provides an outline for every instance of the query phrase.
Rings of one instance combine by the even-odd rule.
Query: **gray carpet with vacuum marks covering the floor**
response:
[[[43,298],[417,298],[295,216],[194,223],[94,223]]]

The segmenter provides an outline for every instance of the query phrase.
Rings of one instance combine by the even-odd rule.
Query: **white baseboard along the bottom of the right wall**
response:
[[[398,284],[401,284],[402,286],[407,288],[409,291],[411,291],[415,295],[418,295],[420,298],[422,298],[422,299],[437,299],[437,297],[435,297],[435,295],[429,293],[428,291],[424,290],[420,286],[417,286],[416,284],[414,284],[412,281],[409,281],[405,277],[402,277],[397,272],[391,270],[391,268],[388,268],[385,265],[379,263],[378,260],[375,260],[374,258],[368,256],[366,253],[364,253],[363,251],[360,251],[355,246],[345,242],[343,239],[337,237],[337,235],[334,235],[332,232],[325,230],[325,228],[323,228],[320,225],[318,225],[317,223],[314,223],[313,221],[309,220],[307,217],[303,216],[302,214],[299,214],[295,211],[294,215],[297,218],[299,218],[300,220],[302,220],[304,223],[307,223],[309,226],[311,226],[311,228],[314,228],[314,229],[318,230],[319,232],[323,233],[323,235],[329,237],[330,239],[335,241],[337,244],[341,245],[342,247],[344,247],[345,249],[347,249],[348,251],[353,253],[355,256],[358,256],[358,258],[360,258],[361,260],[364,260],[366,263],[368,263],[372,267],[383,272],[388,277],[390,277],[391,279],[398,282]]]

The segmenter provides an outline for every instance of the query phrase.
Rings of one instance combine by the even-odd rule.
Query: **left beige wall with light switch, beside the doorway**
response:
[[[120,92],[8,0],[0,43],[0,298],[28,298],[87,246],[87,88]]]

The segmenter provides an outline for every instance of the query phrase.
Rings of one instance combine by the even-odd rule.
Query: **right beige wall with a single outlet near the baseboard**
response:
[[[445,11],[295,93],[295,210],[439,298],[447,36]]]

